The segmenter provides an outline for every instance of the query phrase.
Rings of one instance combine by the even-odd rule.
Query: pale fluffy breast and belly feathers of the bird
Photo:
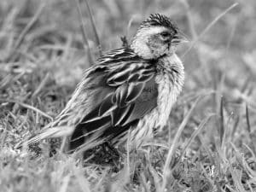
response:
[[[152,137],[154,128],[160,130],[166,125],[172,106],[183,87],[183,63],[177,55],[161,58],[157,65],[154,79],[158,90],[157,107],[146,114],[136,129],[131,131],[131,138],[137,141],[136,145],[142,143],[145,137]]]

